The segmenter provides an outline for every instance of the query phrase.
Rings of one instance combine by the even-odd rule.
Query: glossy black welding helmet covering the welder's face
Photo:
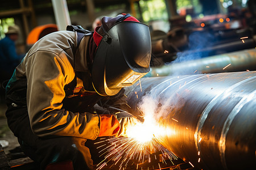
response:
[[[146,24],[125,20],[102,36],[92,63],[94,90],[113,96],[150,71],[151,38]]]

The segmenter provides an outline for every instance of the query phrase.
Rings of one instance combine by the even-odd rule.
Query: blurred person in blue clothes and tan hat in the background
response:
[[[0,40],[0,79],[1,84],[11,78],[13,71],[24,57],[16,53],[15,41],[19,38],[19,27],[11,25],[5,33],[5,38]],[[1,96],[5,91],[1,88]]]

